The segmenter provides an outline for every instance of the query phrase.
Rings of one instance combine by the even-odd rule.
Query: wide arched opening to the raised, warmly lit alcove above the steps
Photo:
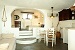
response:
[[[11,27],[44,27],[44,16],[35,9],[16,9],[11,14]]]

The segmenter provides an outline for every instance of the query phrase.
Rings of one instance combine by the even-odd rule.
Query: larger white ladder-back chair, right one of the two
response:
[[[46,32],[46,46],[48,46],[48,42],[52,43],[52,47],[54,43],[56,44],[56,35],[54,33],[54,28],[50,28]]]

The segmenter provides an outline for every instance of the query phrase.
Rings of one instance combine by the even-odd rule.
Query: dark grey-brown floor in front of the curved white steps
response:
[[[62,40],[57,40],[57,44],[51,47],[51,43],[46,46],[43,41],[34,44],[17,44],[16,50],[68,50],[68,45],[63,44]]]

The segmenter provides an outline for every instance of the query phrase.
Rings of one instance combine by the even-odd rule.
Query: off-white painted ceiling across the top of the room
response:
[[[1,0],[5,5],[19,6],[25,8],[62,10],[71,7],[75,0]]]

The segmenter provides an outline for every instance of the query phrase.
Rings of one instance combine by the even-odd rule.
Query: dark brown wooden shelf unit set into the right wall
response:
[[[59,21],[63,20],[75,20],[75,11],[71,9],[63,9],[59,12]]]

